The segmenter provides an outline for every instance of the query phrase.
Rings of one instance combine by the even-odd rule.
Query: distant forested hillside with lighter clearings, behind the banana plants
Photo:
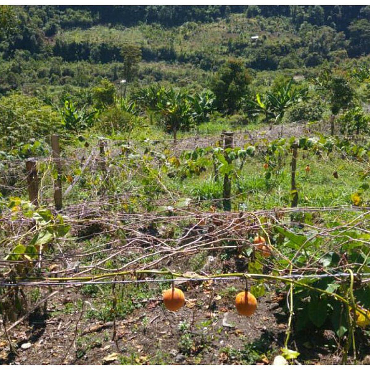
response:
[[[144,81],[171,80],[160,62],[207,74],[231,56],[255,71],[349,63],[370,51],[369,14],[369,6],[3,6],[1,92],[117,80],[128,46],[141,51]]]

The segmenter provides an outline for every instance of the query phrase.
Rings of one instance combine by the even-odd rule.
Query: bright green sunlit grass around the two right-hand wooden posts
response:
[[[305,167],[310,165],[311,171],[306,174]],[[232,181],[232,196],[234,209],[250,211],[253,209],[270,209],[273,207],[290,206],[290,158],[287,158],[282,173],[266,181],[263,162],[259,158],[247,159],[240,178]],[[300,206],[339,206],[351,205],[351,194],[359,191],[362,181],[357,173],[363,164],[347,161],[337,157],[309,159],[300,157],[297,162],[296,181],[299,188]],[[339,178],[333,176],[337,171]],[[206,174],[186,179],[182,184],[184,196],[190,196],[195,201],[209,205],[222,206],[221,202],[212,202],[222,198],[222,179],[213,181],[211,170]],[[366,200],[369,191],[362,191]]]

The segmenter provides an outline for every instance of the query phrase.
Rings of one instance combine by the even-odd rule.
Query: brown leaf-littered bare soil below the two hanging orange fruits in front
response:
[[[60,293],[48,302],[47,315],[32,314],[0,342],[2,364],[271,364],[283,346],[287,316],[273,290],[258,299],[251,317],[236,313],[235,292],[241,281],[183,283],[185,306],[176,313],[166,310],[161,297],[142,303],[124,320],[86,319],[67,312],[68,304],[81,298],[77,290]],[[85,309],[93,298],[85,299]],[[58,314],[56,314],[58,313]],[[293,337],[299,361],[339,364],[332,333]],[[321,339],[320,339],[321,338]],[[362,363],[369,363],[364,357]]]

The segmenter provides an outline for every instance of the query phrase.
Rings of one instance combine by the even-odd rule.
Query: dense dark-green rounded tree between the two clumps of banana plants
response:
[[[237,110],[242,97],[248,91],[250,80],[242,61],[235,58],[229,59],[211,81],[211,90],[216,97],[216,108],[225,113]]]

